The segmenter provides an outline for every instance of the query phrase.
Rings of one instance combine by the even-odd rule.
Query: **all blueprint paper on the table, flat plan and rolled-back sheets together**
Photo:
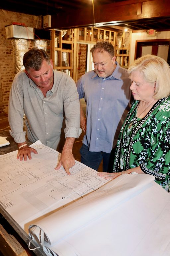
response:
[[[46,255],[170,255],[170,194],[153,176],[108,182],[77,161],[68,176],[54,170],[58,152],[40,141],[33,147],[39,154],[26,162],[17,151],[0,156],[0,203],[35,238],[41,230]]]

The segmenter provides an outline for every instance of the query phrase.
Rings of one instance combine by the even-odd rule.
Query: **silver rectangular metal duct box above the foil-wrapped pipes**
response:
[[[10,25],[5,27],[6,38],[26,38],[34,39],[34,28]]]

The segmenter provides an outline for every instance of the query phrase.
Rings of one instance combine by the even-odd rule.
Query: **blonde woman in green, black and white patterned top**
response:
[[[122,126],[113,173],[106,179],[134,171],[151,174],[170,192],[170,67],[154,55],[145,55],[128,68],[134,101]]]

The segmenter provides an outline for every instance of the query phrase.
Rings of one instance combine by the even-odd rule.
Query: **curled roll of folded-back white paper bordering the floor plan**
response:
[[[121,175],[95,193],[91,193],[74,204],[68,205],[65,209],[52,213],[33,224],[41,227],[51,244],[54,244],[67,234],[102,216],[122,201],[128,200],[130,195],[153,180],[154,177],[151,175]],[[52,223],[54,222],[59,232],[53,228]],[[63,224],[65,228],[63,228]]]

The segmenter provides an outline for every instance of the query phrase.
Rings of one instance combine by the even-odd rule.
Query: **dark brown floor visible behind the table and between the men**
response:
[[[86,114],[86,103],[84,99],[81,100],[81,104],[83,107],[84,114]],[[0,147],[0,155],[6,154],[10,151],[15,151],[18,149],[17,144],[14,142],[13,138],[9,134],[9,123],[8,123],[8,115],[0,113],[0,136],[7,137],[7,140],[10,142],[9,146]],[[80,137],[75,140],[74,146],[73,146],[73,155],[75,160],[80,162],[80,148],[82,146],[82,139],[84,137],[84,132],[81,133]],[[60,151],[60,150],[58,150]],[[102,163],[99,166],[98,169],[99,172],[102,171]]]

